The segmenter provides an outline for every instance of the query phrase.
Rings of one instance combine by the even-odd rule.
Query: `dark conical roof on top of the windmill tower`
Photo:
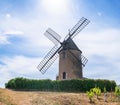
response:
[[[65,43],[63,44],[63,47],[61,50],[78,50],[80,52],[82,52],[78,47],[77,45],[74,43],[74,41],[69,38],[65,41]]]

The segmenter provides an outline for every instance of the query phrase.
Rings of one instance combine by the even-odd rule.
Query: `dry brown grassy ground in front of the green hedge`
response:
[[[85,93],[62,93],[40,91],[13,91],[0,89],[0,105],[120,105],[114,93],[108,93],[107,102],[104,95],[99,99],[94,96],[90,103]]]

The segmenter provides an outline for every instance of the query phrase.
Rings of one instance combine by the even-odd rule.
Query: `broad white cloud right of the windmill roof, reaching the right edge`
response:
[[[77,36],[75,42],[83,52],[90,56],[99,55],[114,58],[119,56],[120,31],[118,29],[104,29],[98,32],[86,32]]]

